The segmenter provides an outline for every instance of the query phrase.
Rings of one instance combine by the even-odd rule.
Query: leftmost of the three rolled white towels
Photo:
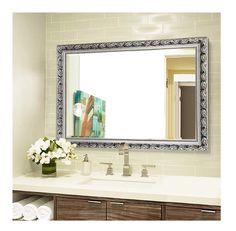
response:
[[[24,206],[32,201],[39,199],[39,196],[27,197],[23,200],[12,203],[12,219],[20,219],[23,216]]]

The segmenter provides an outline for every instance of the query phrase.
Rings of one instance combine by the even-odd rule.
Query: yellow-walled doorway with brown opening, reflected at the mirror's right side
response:
[[[196,138],[194,57],[166,57],[166,137]]]

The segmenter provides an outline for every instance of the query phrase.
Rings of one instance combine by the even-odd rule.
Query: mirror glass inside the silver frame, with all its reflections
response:
[[[67,53],[66,137],[196,139],[196,50]]]

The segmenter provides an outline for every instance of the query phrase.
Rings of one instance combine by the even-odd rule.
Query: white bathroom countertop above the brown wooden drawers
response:
[[[220,205],[220,178],[194,176],[105,176],[58,171],[57,177],[31,172],[13,179],[13,190],[108,198]]]

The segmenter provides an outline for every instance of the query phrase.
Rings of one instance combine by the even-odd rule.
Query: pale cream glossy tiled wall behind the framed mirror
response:
[[[56,46],[59,44],[124,40],[167,39],[191,36],[209,38],[209,151],[130,151],[133,172],[142,164],[156,164],[151,174],[220,176],[220,14],[218,13],[52,13],[46,16],[45,135],[56,135]],[[123,157],[116,150],[80,149],[89,154],[93,170],[104,171],[99,162],[113,162],[122,171]],[[60,165],[61,168],[66,168]]]

